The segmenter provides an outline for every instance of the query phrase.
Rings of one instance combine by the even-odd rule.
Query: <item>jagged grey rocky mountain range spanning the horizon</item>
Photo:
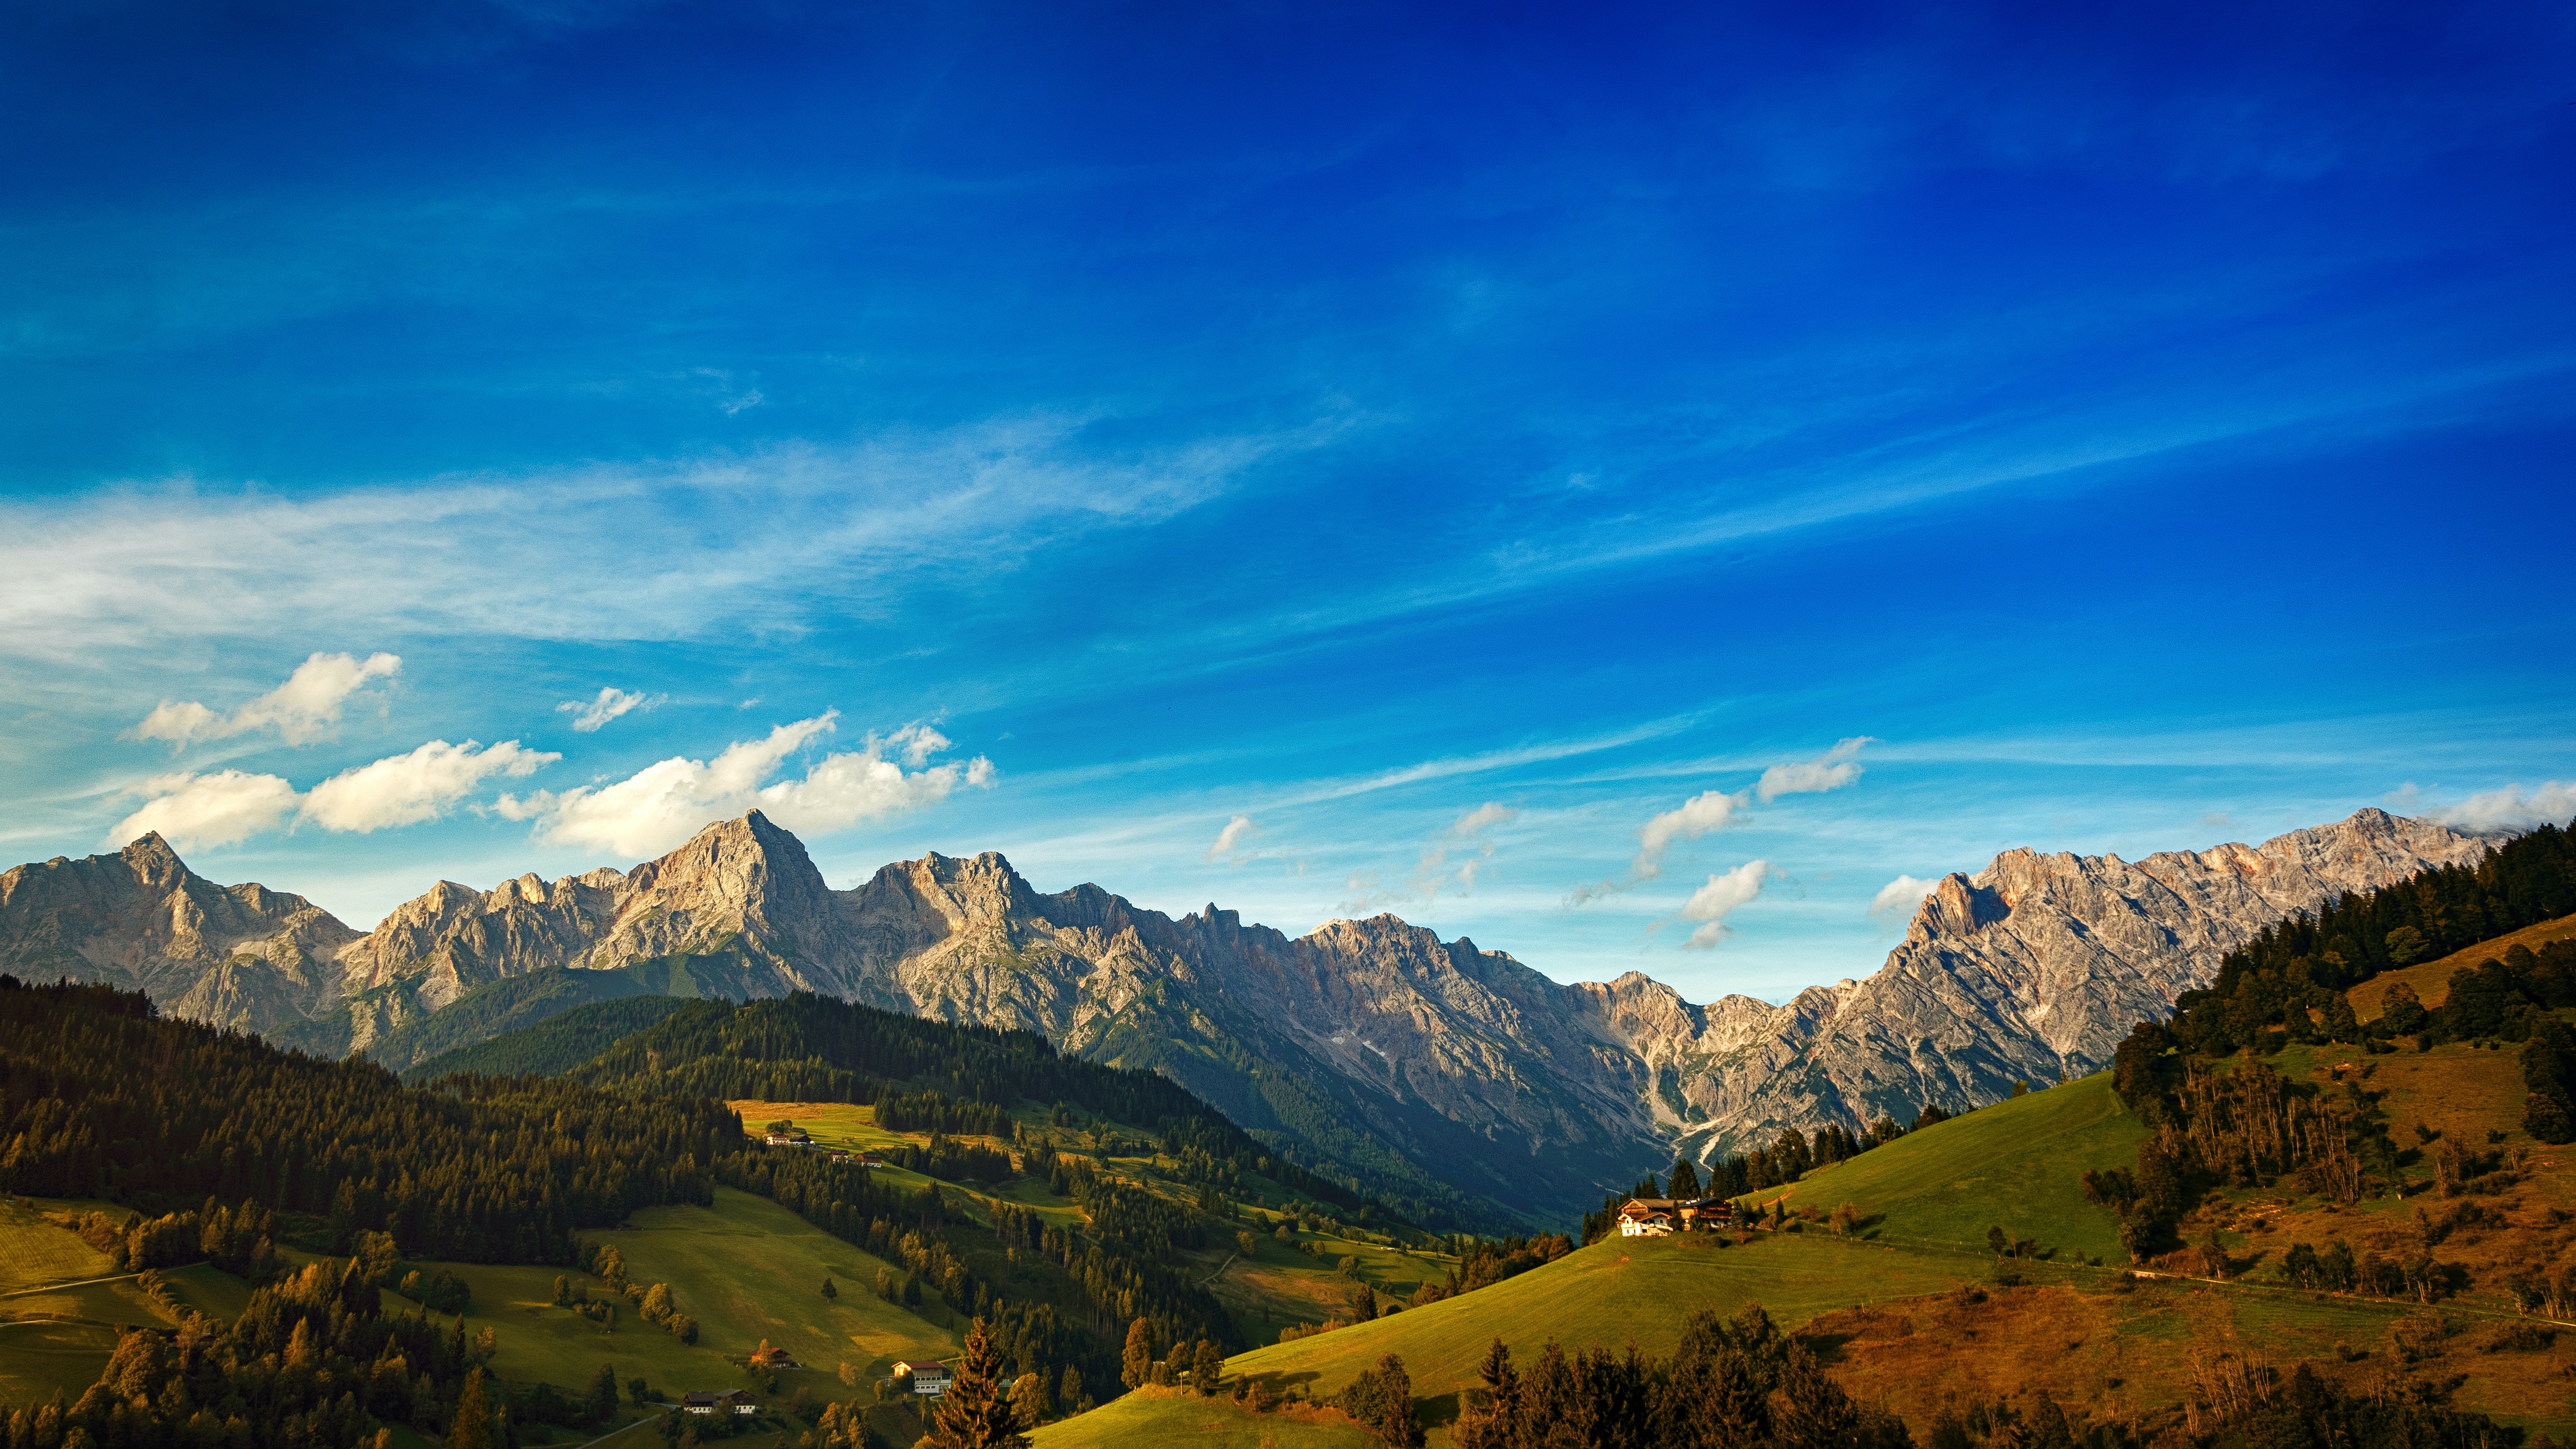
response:
[[[1175,920],[1092,884],[1041,895],[999,853],[933,853],[829,890],[757,810],[631,871],[440,882],[368,933],[304,897],[216,887],[147,835],[0,874],[0,969],[142,987],[178,1016],[325,1055],[399,1057],[422,1049],[435,1011],[531,972],[629,977],[549,987],[562,1006],[811,990],[1159,1070],[1425,1217],[1556,1222],[1677,1150],[1708,1158],[1785,1127],[1909,1119],[2099,1070],[2138,1018],[2169,1016],[2264,926],[2486,848],[2362,810],[2136,864],[2007,851],[1945,877],[1868,980],[1695,1006],[1641,972],[1558,985],[1394,915],[1291,938],[1216,905]],[[531,1021],[492,1016],[492,1031]],[[479,1036],[443,1031],[440,1047],[461,1039]]]

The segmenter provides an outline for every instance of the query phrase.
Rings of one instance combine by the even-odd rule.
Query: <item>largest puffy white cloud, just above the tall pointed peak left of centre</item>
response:
[[[600,846],[621,856],[657,856],[688,841],[708,820],[760,810],[788,830],[827,835],[860,820],[920,810],[961,784],[989,786],[992,761],[927,766],[948,737],[927,724],[868,735],[858,750],[824,755],[804,773],[762,784],[806,740],[835,727],[840,712],[778,724],[765,740],[737,740],[714,761],[667,758],[603,786],[500,797],[500,815],[536,820],[551,843]],[[907,771],[904,766],[917,766]]]

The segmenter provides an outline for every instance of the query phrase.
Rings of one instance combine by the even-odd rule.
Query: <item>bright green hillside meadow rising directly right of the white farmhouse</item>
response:
[[[1855,1204],[1865,1232],[1947,1248],[1984,1248],[1986,1227],[2032,1238],[2040,1250],[2125,1263],[2120,1217],[2084,1201],[2084,1168],[2136,1168],[2146,1124],[2120,1106],[2110,1073],[1909,1132],[1886,1147],[1808,1173],[1790,1207]]]

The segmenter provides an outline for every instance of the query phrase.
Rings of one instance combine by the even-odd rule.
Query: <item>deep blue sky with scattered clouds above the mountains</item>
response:
[[[10,5],[0,859],[1391,910],[2576,817],[2563,5]]]

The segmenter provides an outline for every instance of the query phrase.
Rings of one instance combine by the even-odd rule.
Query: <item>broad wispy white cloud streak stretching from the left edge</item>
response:
[[[340,629],[510,639],[690,639],[817,611],[886,611],[917,570],[979,567],[1092,529],[1170,518],[1327,418],[1103,451],[1087,415],[1020,415],[822,449],[440,477],[309,498],[193,480],[0,503],[0,657]],[[528,529],[544,516],[546,529]],[[258,557],[258,570],[240,559]],[[167,714],[198,735],[214,712]]]

